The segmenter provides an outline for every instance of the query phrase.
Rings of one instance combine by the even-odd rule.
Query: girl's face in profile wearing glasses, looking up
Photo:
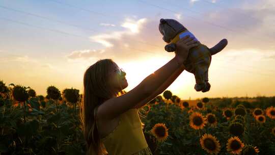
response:
[[[119,68],[116,63],[112,66],[108,73],[108,82],[112,88],[116,91],[121,91],[128,86],[127,80],[125,78],[126,73],[123,69]]]

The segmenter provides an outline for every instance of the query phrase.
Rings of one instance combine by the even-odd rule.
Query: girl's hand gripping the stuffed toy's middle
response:
[[[199,41],[194,40],[194,38],[189,35],[181,38],[176,42],[176,57],[178,57],[181,62],[184,62],[188,57],[189,49],[198,46],[199,44]]]

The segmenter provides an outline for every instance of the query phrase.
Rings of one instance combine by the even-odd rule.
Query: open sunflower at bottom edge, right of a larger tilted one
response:
[[[244,144],[238,137],[231,137],[226,144],[227,151],[232,154],[239,154],[244,147]]]

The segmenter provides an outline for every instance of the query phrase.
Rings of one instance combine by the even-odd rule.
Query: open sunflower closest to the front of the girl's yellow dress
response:
[[[156,123],[151,129],[151,133],[157,138],[158,141],[163,142],[168,137],[168,128],[164,123]]]

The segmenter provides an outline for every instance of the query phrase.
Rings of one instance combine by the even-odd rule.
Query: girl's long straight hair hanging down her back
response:
[[[122,90],[115,92],[107,84],[107,74],[114,66],[112,59],[98,60],[84,73],[84,91],[81,100],[80,120],[82,132],[86,140],[87,155],[107,154],[95,124],[94,109],[105,100],[125,93]],[[139,113],[140,116],[141,113]]]

